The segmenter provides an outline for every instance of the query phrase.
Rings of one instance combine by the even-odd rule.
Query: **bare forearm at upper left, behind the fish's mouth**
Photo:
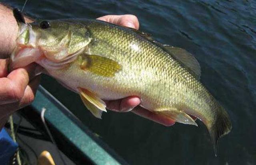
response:
[[[26,18],[27,22],[32,22]],[[18,24],[12,9],[0,4],[0,59],[8,58],[15,47]]]

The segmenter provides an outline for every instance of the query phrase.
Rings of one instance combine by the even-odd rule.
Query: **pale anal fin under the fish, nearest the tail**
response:
[[[172,120],[175,120],[179,123],[198,126],[196,122],[188,114],[180,110],[177,110],[176,108],[160,108],[158,110],[155,110],[155,112],[158,114],[163,114],[164,116],[168,116]]]

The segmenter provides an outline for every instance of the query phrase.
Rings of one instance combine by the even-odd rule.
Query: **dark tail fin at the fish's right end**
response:
[[[222,136],[228,134],[232,129],[232,123],[228,116],[228,113],[224,110],[224,108],[220,108],[218,110],[217,118],[214,124],[208,127],[208,131],[210,133],[215,156],[217,156],[217,143],[218,139]]]

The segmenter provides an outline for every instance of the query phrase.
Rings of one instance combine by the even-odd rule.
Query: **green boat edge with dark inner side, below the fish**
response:
[[[34,102],[20,111],[34,127],[50,140],[42,120],[44,118],[58,149],[76,164],[128,164],[106,143],[93,134],[82,122],[45,88],[39,86]]]

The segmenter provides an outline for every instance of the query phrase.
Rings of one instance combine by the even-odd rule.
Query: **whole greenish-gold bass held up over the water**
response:
[[[100,20],[63,19],[19,26],[10,69],[36,62],[66,88],[78,93],[97,118],[103,100],[140,97],[140,107],[176,122],[208,129],[214,145],[232,123],[223,106],[200,82],[200,65],[188,51],[164,45],[136,29]]]

